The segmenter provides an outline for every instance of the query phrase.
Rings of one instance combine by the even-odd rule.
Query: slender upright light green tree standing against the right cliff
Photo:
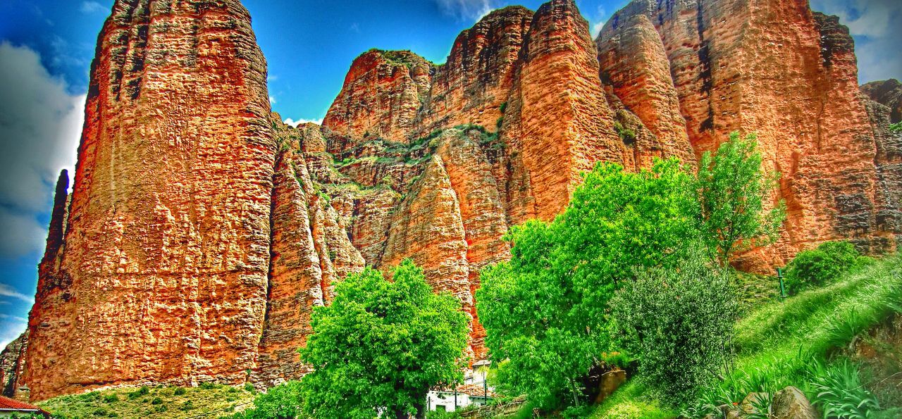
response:
[[[782,203],[767,205],[776,177],[761,170],[756,144],[755,134],[743,140],[732,132],[730,141],[713,155],[705,152],[699,163],[703,237],[722,265],[736,252],[776,239],[785,219]]]

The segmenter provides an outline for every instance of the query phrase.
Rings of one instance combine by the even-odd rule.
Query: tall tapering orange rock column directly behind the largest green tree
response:
[[[529,173],[534,209],[513,209],[513,223],[554,218],[582,172],[596,161],[622,163],[625,152],[613,130],[588,23],[573,0],[542,5],[527,36],[502,138],[519,151]]]

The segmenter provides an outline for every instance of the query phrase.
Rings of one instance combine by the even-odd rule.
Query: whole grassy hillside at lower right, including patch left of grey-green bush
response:
[[[750,278],[741,279],[744,287],[750,287]],[[747,313],[736,325],[735,372],[705,393],[706,402],[741,402],[750,392],[772,393],[787,386],[800,387],[811,396],[813,381],[817,381],[815,369],[833,365],[833,370],[841,370],[843,365],[851,365],[858,369],[861,387],[876,396],[886,417],[902,414],[891,409],[902,403],[898,342],[884,342],[879,333],[868,333],[881,324],[884,329],[896,330],[902,323],[887,324],[902,313],[902,257],[854,269],[831,285],[786,301],[767,295],[751,304]],[[869,355],[851,348],[852,342],[867,344]],[[665,406],[647,391],[641,378],[634,378],[592,417],[675,417],[677,413]]]

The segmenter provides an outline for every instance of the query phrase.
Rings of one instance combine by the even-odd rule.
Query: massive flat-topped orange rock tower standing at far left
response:
[[[265,80],[239,1],[115,2],[29,320],[32,399],[246,379],[270,260]]]

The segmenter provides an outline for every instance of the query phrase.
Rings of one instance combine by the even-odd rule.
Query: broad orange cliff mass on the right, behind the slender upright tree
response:
[[[898,173],[879,169],[854,43],[836,17],[805,0],[635,0],[597,42],[603,78],[658,138],[682,137],[674,105],[697,155],[729,132],[758,133],[788,219],[777,245],[741,265],[767,270],[826,240],[897,247],[886,218],[898,214],[888,187]],[[648,64],[632,65],[631,54]]]

